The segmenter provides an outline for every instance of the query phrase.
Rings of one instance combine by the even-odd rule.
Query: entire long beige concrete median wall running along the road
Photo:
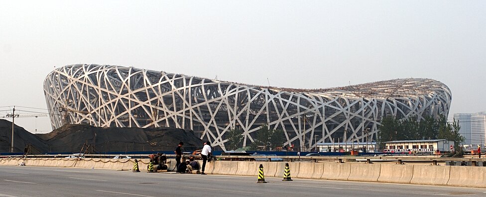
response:
[[[175,160],[168,160],[169,170]],[[81,167],[131,170],[134,159],[100,158],[3,158],[0,165],[16,166],[25,162],[27,166]],[[139,159],[140,171],[146,170],[149,159]],[[202,167],[202,161],[198,161]],[[267,177],[283,177],[286,162],[257,161],[213,161],[206,164],[207,174],[257,176],[263,165]],[[76,164],[76,165],[74,165]],[[328,179],[344,181],[367,181],[421,185],[447,185],[486,188],[486,167],[435,166],[365,163],[314,163],[289,162],[292,178]]]

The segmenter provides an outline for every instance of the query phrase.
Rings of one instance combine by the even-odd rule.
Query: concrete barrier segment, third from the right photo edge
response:
[[[378,182],[410,183],[413,165],[381,164]]]

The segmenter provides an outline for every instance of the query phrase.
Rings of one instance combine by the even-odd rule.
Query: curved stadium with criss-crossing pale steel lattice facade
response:
[[[384,115],[449,113],[451,91],[423,78],[326,89],[290,89],[218,81],[124,66],[70,65],[44,81],[53,129],[66,123],[98,127],[193,130],[224,149],[225,132],[243,131],[244,145],[261,126],[283,130],[284,145],[376,139]]]

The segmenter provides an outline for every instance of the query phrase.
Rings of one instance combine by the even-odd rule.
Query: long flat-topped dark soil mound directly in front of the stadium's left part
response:
[[[99,152],[168,151],[180,141],[187,150],[202,146],[192,131],[174,128],[101,128],[90,125],[65,125],[46,134],[38,134],[53,152],[79,152],[91,144]],[[194,147],[194,148],[191,148]]]

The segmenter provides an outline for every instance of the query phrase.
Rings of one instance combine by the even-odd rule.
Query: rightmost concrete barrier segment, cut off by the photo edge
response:
[[[450,166],[448,186],[486,188],[486,168],[473,166]]]

